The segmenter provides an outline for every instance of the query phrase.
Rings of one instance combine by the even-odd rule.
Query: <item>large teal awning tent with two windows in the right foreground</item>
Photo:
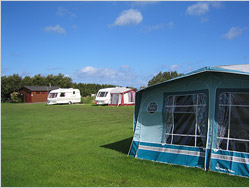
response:
[[[249,177],[249,65],[204,67],[138,91],[129,155]]]

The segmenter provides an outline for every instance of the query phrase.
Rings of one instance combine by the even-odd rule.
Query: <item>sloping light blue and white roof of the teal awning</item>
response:
[[[248,75],[249,76],[249,64],[222,65],[222,66],[214,66],[214,67],[207,66],[207,67],[204,67],[204,68],[189,72],[187,74],[184,74],[182,76],[178,76],[176,78],[173,78],[173,79],[170,79],[170,80],[167,80],[167,81],[164,81],[164,82],[161,82],[161,83],[158,83],[158,84],[143,88],[143,89],[139,90],[138,92],[145,91],[145,90],[147,90],[149,88],[157,87],[159,85],[162,85],[162,84],[167,83],[167,82],[171,82],[173,80],[178,80],[178,79],[181,79],[181,78],[185,78],[185,77],[188,77],[188,76],[193,76],[193,75],[200,74],[200,73],[203,73],[203,72],[222,72],[222,73],[242,74],[242,75]]]

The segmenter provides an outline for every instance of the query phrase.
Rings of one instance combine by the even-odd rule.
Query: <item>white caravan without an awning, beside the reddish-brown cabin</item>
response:
[[[73,104],[81,102],[81,95],[79,89],[73,88],[59,88],[50,91],[47,104]]]

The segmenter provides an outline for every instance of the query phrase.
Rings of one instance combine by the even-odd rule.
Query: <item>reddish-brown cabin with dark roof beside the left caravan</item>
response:
[[[46,102],[48,94],[51,90],[58,89],[57,86],[23,86],[18,90],[21,94],[23,102],[35,103]]]

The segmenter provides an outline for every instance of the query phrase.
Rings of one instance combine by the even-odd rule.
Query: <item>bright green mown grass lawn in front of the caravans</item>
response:
[[[2,104],[3,187],[248,187],[248,178],[127,156],[134,107]]]

